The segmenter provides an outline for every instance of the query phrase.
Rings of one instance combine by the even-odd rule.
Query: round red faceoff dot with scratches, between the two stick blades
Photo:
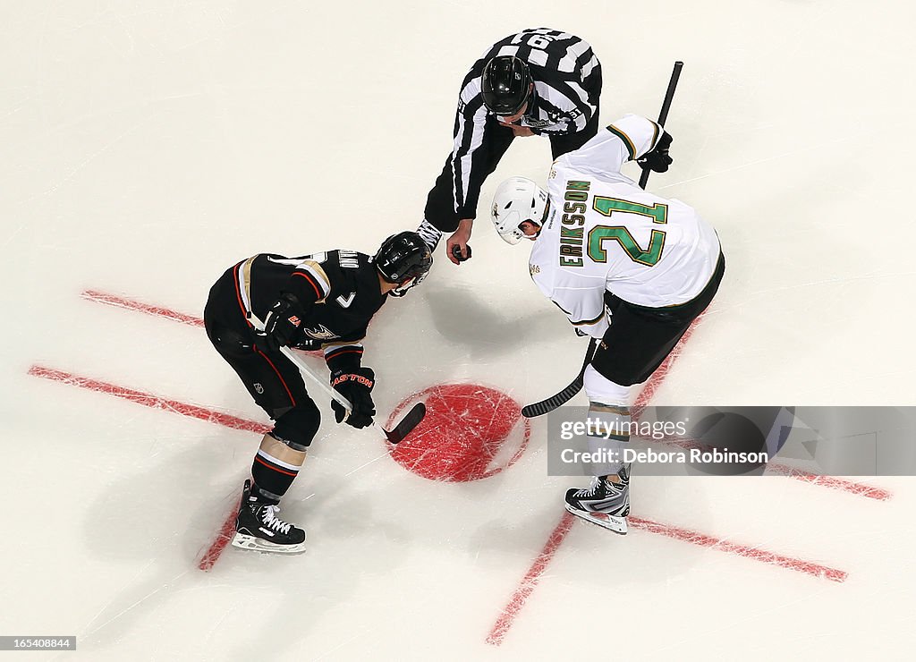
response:
[[[401,402],[388,418],[420,400],[426,417],[406,440],[388,445],[394,461],[432,481],[468,482],[511,466],[528,446],[530,425],[521,406],[501,391],[476,384],[443,384]]]

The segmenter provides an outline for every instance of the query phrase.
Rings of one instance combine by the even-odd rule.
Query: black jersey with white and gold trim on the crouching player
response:
[[[346,354],[362,355],[366,327],[386,299],[373,258],[343,249],[255,255],[237,266],[237,278],[240,303],[261,320],[282,293],[295,295],[306,313],[292,344],[322,347],[329,364]]]

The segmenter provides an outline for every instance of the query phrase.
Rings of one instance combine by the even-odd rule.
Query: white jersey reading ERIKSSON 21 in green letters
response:
[[[719,239],[682,201],[638,187],[620,172],[662,130],[627,115],[553,163],[550,212],[531,250],[531,277],[582,331],[607,330],[605,290],[638,306],[695,298],[713,276]]]

